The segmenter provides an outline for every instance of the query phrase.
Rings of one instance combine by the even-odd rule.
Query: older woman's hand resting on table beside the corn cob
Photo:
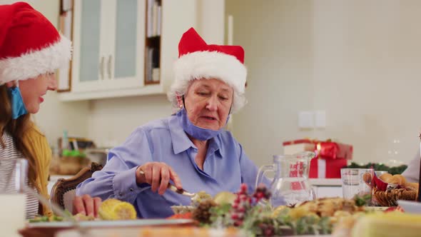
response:
[[[98,217],[98,210],[101,206],[101,198],[92,198],[88,194],[76,196],[73,199],[73,215],[81,213],[85,216]]]

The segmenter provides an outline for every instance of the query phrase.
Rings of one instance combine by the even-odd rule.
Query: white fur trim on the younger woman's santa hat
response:
[[[30,40],[30,39],[29,39]],[[29,51],[19,57],[0,59],[0,85],[9,81],[33,79],[53,72],[69,63],[71,41],[64,36],[39,51]]]

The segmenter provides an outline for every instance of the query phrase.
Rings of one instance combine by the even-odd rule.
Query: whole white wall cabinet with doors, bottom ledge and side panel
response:
[[[60,93],[61,100],[166,93],[173,80],[178,41],[190,27],[197,29],[201,1],[157,1],[161,4],[160,74],[153,82],[146,80],[151,40],[146,33],[147,0],[74,1],[71,91]]]

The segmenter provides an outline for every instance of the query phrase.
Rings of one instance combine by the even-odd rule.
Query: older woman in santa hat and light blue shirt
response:
[[[255,186],[258,168],[229,131],[230,113],[245,105],[244,51],[208,45],[191,28],[181,37],[168,99],[178,112],[141,126],[108,154],[106,166],[79,184],[78,195],[133,203],[138,217],[171,216],[191,200],[166,191],[168,181],[190,192],[236,192]],[[142,171],[142,172],[141,172]]]

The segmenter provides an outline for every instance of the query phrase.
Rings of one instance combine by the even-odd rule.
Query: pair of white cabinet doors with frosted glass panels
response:
[[[144,0],[75,1],[71,91],[142,86],[144,15]]]

